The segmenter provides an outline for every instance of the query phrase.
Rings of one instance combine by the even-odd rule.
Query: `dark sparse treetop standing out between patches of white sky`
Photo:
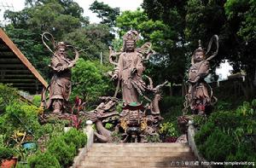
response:
[[[109,27],[115,26],[116,17],[120,14],[119,8],[111,8],[108,4],[97,1],[90,4],[90,10],[96,13],[98,18],[102,19],[102,24],[106,24]]]

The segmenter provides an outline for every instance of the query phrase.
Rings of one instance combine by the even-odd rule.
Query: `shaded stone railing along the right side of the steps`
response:
[[[193,125],[193,121],[189,120],[189,129],[188,129],[188,142],[189,142],[189,147],[191,148],[192,152],[195,154],[196,159],[201,163],[202,167],[207,167],[207,168],[212,168],[211,165],[203,164],[203,163],[209,163],[206,159],[201,157],[199,154],[198,149],[196,148],[195,145],[195,127]]]

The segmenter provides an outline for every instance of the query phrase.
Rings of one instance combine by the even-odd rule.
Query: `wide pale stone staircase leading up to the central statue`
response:
[[[195,164],[198,162],[187,144],[93,143],[76,168],[173,168]]]

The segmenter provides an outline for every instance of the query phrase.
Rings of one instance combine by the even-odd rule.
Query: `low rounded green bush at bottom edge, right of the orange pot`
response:
[[[61,168],[60,163],[55,158],[55,154],[50,154],[49,152],[37,153],[28,159],[28,165],[31,168]]]

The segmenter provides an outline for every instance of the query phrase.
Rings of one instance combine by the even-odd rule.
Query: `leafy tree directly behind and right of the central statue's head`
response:
[[[153,43],[153,49],[157,52],[152,56],[147,65],[147,72],[153,77],[156,83],[165,80],[174,83],[182,83],[185,70],[185,56],[182,44],[176,43],[178,33],[173,27],[164,23],[163,20],[153,20],[148,18],[143,10],[124,11],[117,18],[119,35],[122,36],[130,29],[140,32],[143,40]],[[166,75],[167,74],[167,75]]]

